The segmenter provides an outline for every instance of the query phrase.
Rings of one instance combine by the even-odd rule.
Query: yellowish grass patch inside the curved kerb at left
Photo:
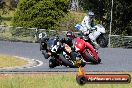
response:
[[[15,67],[28,64],[28,61],[10,55],[0,54],[0,68]]]

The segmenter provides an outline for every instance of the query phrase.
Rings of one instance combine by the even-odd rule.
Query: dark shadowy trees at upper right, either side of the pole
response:
[[[113,0],[112,34],[132,35],[132,0]],[[84,10],[93,10],[97,19],[109,28],[112,0],[79,0]]]

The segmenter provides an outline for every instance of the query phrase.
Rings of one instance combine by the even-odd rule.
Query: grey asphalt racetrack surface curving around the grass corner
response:
[[[93,65],[88,63],[86,71],[132,71],[132,49],[123,48],[100,48],[99,56],[101,64]],[[0,41],[0,54],[9,54],[42,61],[41,66],[30,68],[0,69],[0,72],[59,72],[78,71],[77,68],[57,66],[53,69],[48,67],[48,60],[44,59],[39,50],[38,43]]]

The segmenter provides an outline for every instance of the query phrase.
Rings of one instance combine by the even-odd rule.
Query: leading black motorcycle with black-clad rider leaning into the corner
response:
[[[49,67],[66,66],[70,68],[84,67],[86,65],[82,56],[74,52],[73,60],[70,56],[71,48],[59,41],[59,37],[45,38],[40,42],[40,49],[46,59],[49,59]]]

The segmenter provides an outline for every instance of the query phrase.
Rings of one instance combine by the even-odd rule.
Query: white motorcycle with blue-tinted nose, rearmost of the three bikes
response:
[[[78,30],[83,29],[83,27],[80,24],[76,24],[75,28]],[[89,38],[92,41],[97,41],[100,47],[102,48],[107,47],[108,39],[104,36],[104,34],[106,33],[105,28],[100,24],[95,25],[94,28],[96,30],[92,30],[92,32],[89,33],[88,35]]]

